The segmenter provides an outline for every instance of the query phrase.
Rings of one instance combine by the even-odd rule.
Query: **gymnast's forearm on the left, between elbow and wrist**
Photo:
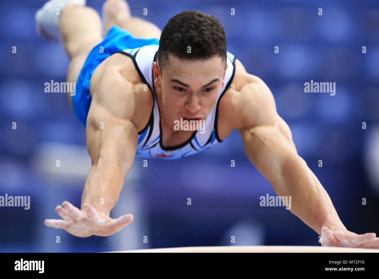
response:
[[[85,202],[89,203],[96,210],[109,216],[119,199],[124,179],[118,162],[99,158],[88,173],[81,206]]]

